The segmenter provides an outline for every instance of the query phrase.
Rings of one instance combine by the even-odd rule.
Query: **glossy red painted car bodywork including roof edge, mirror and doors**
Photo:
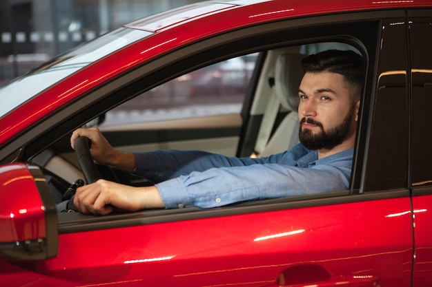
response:
[[[131,23],[131,28],[152,34],[91,63],[3,116],[1,147],[121,73],[217,34],[283,19],[432,7],[431,1],[234,1],[210,9],[206,5],[184,8],[190,13],[186,19],[176,20],[177,10]],[[395,193],[379,200],[375,193],[351,194],[337,204],[332,198],[320,198],[304,207],[276,202],[269,204],[271,208],[246,205],[232,213],[197,211],[192,219],[179,211],[172,212],[171,220],[160,211],[104,219],[88,215],[90,219],[79,227],[76,222],[82,215],[70,215],[59,226],[57,255],[36,261],[2,255],[0,282],[2,286],[430,286],[432,196],[412,196],[409,190]],[[41,212],[46,206],[38,194],[26,165],[0,167],[0,244],[46,237],[48,223]],[[29,218],[35,225],[28,225]]]

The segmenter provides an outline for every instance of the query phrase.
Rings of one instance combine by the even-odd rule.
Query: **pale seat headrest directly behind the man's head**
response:
[[[300,103],[299,87],[304,75],[304,54],[287,52],[277,57],[275,66],[275,92],[283,107],[297,111]]]

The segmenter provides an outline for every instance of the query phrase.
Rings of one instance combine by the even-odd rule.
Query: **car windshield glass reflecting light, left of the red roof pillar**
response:
[[[63,78],[150,34],[119,28],[16,78],[0,88],[0,118]]]

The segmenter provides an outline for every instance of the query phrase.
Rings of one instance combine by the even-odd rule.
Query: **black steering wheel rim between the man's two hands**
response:
[[[90,153],[90,141],[85,136],[80,136],[75,140],[75,156],[77,156],[79,167],[84,174],[86,183],[97,182],[101,178],[99,171],[93,162]]]

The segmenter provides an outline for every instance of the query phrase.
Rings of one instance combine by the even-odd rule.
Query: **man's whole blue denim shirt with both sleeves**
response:
[[[135,158],[134,174],[155,182],[167,209],[210,208],[348,189],[353,149],[320,160],[301,144],[266,158],[176,150],[139,152]]]

